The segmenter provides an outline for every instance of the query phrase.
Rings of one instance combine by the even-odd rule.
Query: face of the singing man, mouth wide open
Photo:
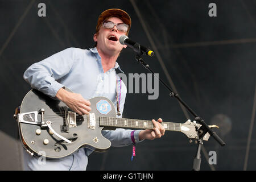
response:
[[[112,21],[113,23],[123,23],[121,19],[116,17],[107,20]],[[98,34],[94,34],[93,40],[94,42],[97,42],[98,51],[100,49],[100,51],[107,55],[115,55],[119,54],[123,48],[127,47],[119,42],[119,38],[122,35],[126,35],[126,32],[118,31],[116,26],[111,29],[101,26]]]

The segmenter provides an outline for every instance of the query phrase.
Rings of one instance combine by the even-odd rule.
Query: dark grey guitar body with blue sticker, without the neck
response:
[[[70,90],[68,91],[71,92]],[[24,147],[31,152],[31,154],[34,154],[35,156],[43,155],[47,159],[64,158],[81,147],[88,147],[98,152],[108,150],[111,146],[111,142],[102,136],[101,130],[103,127],[100,127],[98,117],[115,117],[114,104],[105,97],[95,97],[89,101],[91,103],[90,107],[92,108],[90,113],[94,113],[96,116],[96,125],[94,126],[94,129],[88,127],[88,115],[80,115],[76,117],[76,126],[69,127],[67,132],[63,130],[65,113],[61,108],[66,106],[64,102],[53,100],[51,97],[46,96],[38,90],[30,90],[24,97],[22,105],[20,106],[21,114],[28,113],[22,116],[24,121],[33,122],[36,121],[37,117],[38,122],[42,122],[42,114],[36,115],[30,112],[44,109],[44,122],[50,121],[52,129],[57,134],[70,140],[71,143],[67,143],[55,134],[52,134],[48,127],[18,122],[20,138],[22,139]],[[108,113],[106,113],[104,108],[101,108],[101,102],[103,104],[109,104],[107,110]],[[97,103],[99,103],[98,109]]]

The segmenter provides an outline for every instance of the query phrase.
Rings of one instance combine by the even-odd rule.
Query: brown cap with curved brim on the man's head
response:
[[[96,33],[100,30],[101,27],[101,23],[110,18],[110,17],[117,17],[119,19],[121,19],[123,21],[123,23],[127,24],[129,26],[128,30],[127,30],[127,35],[128,32],[131,28],[131,18],[129,16],[129,14],[127,14],[125,11],[120,10],[120,9],[108,9],[103,11],[100,16],[98,16],[98,23],[96,26]]]

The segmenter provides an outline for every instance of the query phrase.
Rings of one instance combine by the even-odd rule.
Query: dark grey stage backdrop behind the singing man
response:
[[[46,17],[38,16],[38,4],[46,4]],[[217,17],[208,15],[216,3]],[[256,1],[0,1],[1,164],[2,170],[22,169],[13,114],[30,86],[23,72],[36,61],[68,47],[93,47],[98,15],[109,8],[127,11],[132,19],[129,37],[158,56],[144,57],[159,76],[170,80],[193,110],[226,142],[204,142],[201,170],[255,170],[255,132],[246,155],[253,110],[256,67]],[[138,11],[137,11],[138,10]],[[139,13],[138,13],[139,12]],[[146,28],[143,27],[143,23]],[[150,35],[154,44],[148,39]],[[160,64],[163,61],[163,64]],[[122,70],[148,73],[127,48],[118,58]],[[167,73],[164,73],[166,68]],[[169,78],[167,78],[169,76]],[[159,85],[158,100],[148,94],[127,94],[123,117],[185,122],[175,98]],[[189,115],[193,119],[192,115]],[[88,170],[190,170],[196,144],[182,133],[166,132],[156,140],[137,145],[131,162],[131,146],[111,148],[89,156]],[[209,151],[217,152],[217,164],[209,166]]]

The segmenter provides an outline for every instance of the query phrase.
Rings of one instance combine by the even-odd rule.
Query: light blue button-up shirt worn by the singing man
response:
[[[53,98],[55,98],[59,89],[65,86],[71,89],[72,92],[80,93],[86,100],[97,96],[107,97],[113,102],[116,109],[117,100],[115,96],[118,76],[115,69],[121,71],[117,62],[115,62],[114,68],[104,73],[101,57],[96,47],[89,50],[67,48],[47,59],[32,64],[24,72],[23,77],[32,88],[40,90]],[[121,114],[125,104],[126,93],[126,86],[122,82]],[[102,135],[111,141],[112,146],[122,147],[133,144],[131,131],[125,129],[103,130]],[[136,130],[134,133],[135,142],[139,142],[139,131]],[[92,150],[88,148],[80,148],[72,155],[61,160],[43,160],[42,158],[34,158],[24,152],[24,169],[85,170],[88,164],[88,155],[91,153]],[[40,162],[39,160],[43,161]]]

